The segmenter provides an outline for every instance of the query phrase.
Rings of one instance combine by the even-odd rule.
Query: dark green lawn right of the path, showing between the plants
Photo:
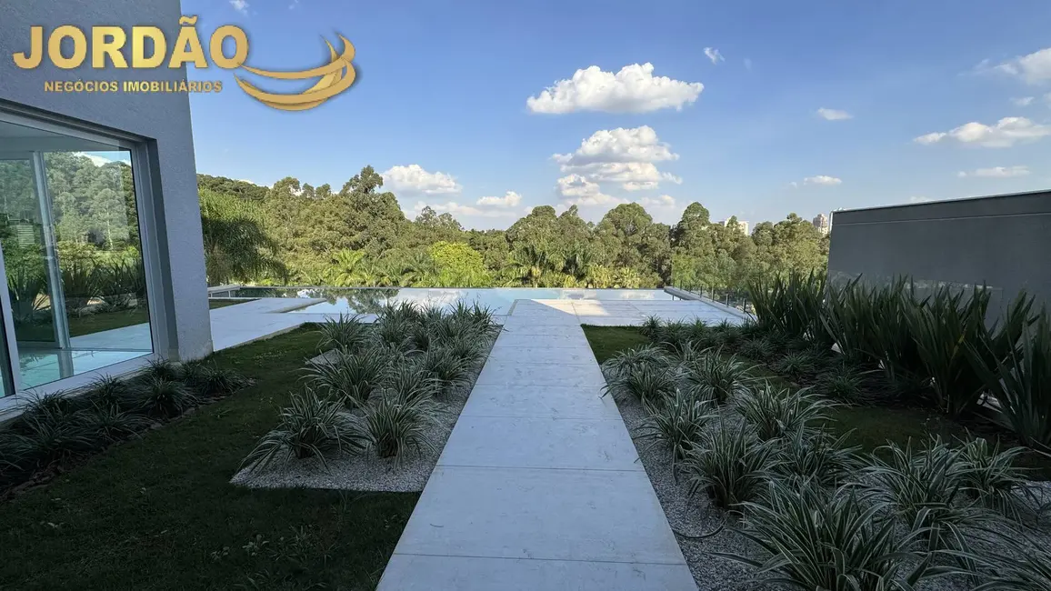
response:
[[[584,326],[583,330],[599,363],[617,351],[650,343],[634,327]],[[778,387],[794,387],[783,376],[763,366],[758,366],[754,374],[770,380]],[[847,445],[860,446],[865,451],[872,451],[888,441],[902,446],[909,440],[923,442],[932,434],[949,441],[969,439],[968,430],[963,425],[923,408],[841,406],[832,409],[831,415],[831,430],[837,435],[850,432]],[[1051,478],[1051,458],[1033,452],[1024,456],[1022,462],[1037,470],[1034,477]]]

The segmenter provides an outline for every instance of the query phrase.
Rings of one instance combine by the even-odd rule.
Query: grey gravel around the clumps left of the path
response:
[[[446,392],[437,399],[438,410],[427,429],[427,439],[433,447],[411,452],[405,457],[382,458],[371,450],[360,455],[330,456],[325,458],[327,470],[316,457],[302,461],[293,458],[284,468],[255,474],[246,468],[238,472],[230,482],[252,488],[323,488],[370,492],[424,490],[495,342],[494,337],[486,346],[486,354],[478,362],[466,387]]]

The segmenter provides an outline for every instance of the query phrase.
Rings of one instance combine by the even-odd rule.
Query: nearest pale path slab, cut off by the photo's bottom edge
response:
[[[420,572],[427,576],[421,578]],[[394,554],[384,589],[400,591],[636,591],[697,589],[685,565],[585,563],[478,556]]]

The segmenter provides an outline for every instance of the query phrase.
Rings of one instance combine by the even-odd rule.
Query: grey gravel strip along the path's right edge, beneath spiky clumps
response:
[[[609,379],[609,376],[607,376]],[[715,507],[704,494],[689,495],[686,485],[687,476],[680,473],[679,482],[673,477],[671,453],[661,445],[652,445],[652,440],[635,437],[640,434],[647,416],[642,405],[631,396],[614,396],[617,408],[624,420],[627,431],[635,441],[639,458],[646,474],[653,483],[657,497],[660,500],[664,514],[675,532],[682,554],[689,566],[699,591],[715,590],[755,590],[772,591],[789,589],[782,585],[762,585],[751,579],[755,569],[741,563],[712,554],[721,552],[729,554],[758,557],[755,544],[734,531],[736,519]],[[729,425],[741,421],[740,416],[728,409],[722,412],[723,421]],[[1043,502],[1051,501],[1051,483],[1034,483],[1043,494],[1037,496]],[[709,535],[723,528],[714,535]],[[1051,546],[1051,534],[1048,528],[1038,534],[1039,538]],[[704,536],[698,538],[698,536]],[[977,541],[975,541],[977,542]],[[991,545],[977,542],[978,545]],[[1003,548],[995,549],[997,552]],[[925,579],[916,589],[920,591],[966,591],[972,589],[962,577],[942,577]]]

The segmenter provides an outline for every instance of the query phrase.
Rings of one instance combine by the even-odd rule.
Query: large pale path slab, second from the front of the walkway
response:
[[[437,466],[394,553],[685,565],[643,470]]]

